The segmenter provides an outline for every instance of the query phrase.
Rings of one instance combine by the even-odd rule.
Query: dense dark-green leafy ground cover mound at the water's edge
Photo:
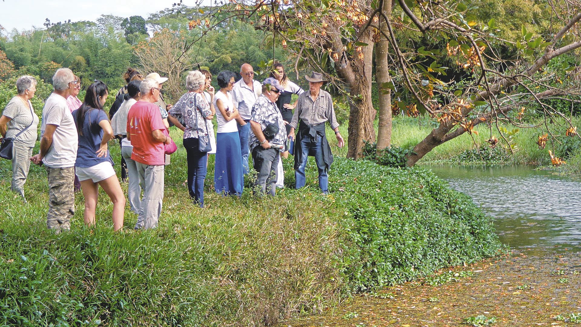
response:
[[[349,242],[340,260],[352,289],[401,283],[500,248],[492,219],[429,170],[342,159],[333,174],[343,184],[337,202]]]

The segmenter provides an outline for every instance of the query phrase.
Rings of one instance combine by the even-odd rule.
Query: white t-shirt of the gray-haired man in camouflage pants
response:
[[[67,106],[67,100],[56,93],[46,99],[42,109],[41,136],[44,135],[47,124],[57,127],[52,134],[51,147],[42,162],[50,168],[74,166],[78,148],[77,126]]]

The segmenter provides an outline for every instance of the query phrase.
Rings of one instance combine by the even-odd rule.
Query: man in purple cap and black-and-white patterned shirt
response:
[[[258,172],[257,186],[262,194],[275,195],[278,161],[286,141],[285,122],[275,102],[284,88],[277,79],[269,77],[262,83],[262,94],[252,106],[250,117],[250,152]]]

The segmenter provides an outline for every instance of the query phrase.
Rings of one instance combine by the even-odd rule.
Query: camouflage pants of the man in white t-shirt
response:
[[[48,173],[48,215],[46,228],[56,233],[70,230],[74,215],[74,166],[66,168],[46,167]]]

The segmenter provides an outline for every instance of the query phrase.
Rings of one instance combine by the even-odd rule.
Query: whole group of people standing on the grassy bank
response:
[[[18,95],[0,117],[0,134],[12,138],[12,190],[24,201],[24,183],[30,162],[44,165],[49,184],[47,227],[59,233],[70,229],[74,215],[74,192],[80,186],[85,198],[84,221],[95,224],[98,187],[113,202],[114,230],[123,228],[125,196],[113,169],[109,141],[121,145],[121,178],[128,177],[128,200],[138,215],[135,229],[157,226],[162,212],[164,166],[177,148],[169,134],[170,125],[184,131],[187,151],[188,193],[195,204],[204,206],[204,183],[208,154],[215,154],[214,187],[225,196],[241,196],[244,176],[249,172],[249,156],[257,172],[261,194],[275,195],[284,187],[281,157],[288,156],[289,138],[295,137],[296,188],[304,186],[307,158],[315,157],[322,193],[328,193],[331,148],[325,123],[335,131],[339,147],[344,145],[335,118],[332,98],[321,90],[321,73],[305,76],[306,92],[289,81],[277,63],[270,77],[254,80],[251,65],[241,67],[242,78],[228,70],[216,79],[220,90],[211,86],[212,74],[195,70],[187,74],[187,93],[166,104],[162,86],[167,80],[157,73],[143,76],[134,69],[125,73],[127,85],[119,90],[109,116],[103,105],[109,96],[105,83],[95,80],[87,88],[84,101],[77,95],[80,79],[68,68],[53,76],[54,91],[42,111],[40,152],[32,154],[37,140],[38,116],[30,99],[36,80],[21,76],[16,81]],[[290,104],[292,94],[299,97]],[[294,113],[293,113],[294,109]],[[218,124],[214,137],[212,120]]]

